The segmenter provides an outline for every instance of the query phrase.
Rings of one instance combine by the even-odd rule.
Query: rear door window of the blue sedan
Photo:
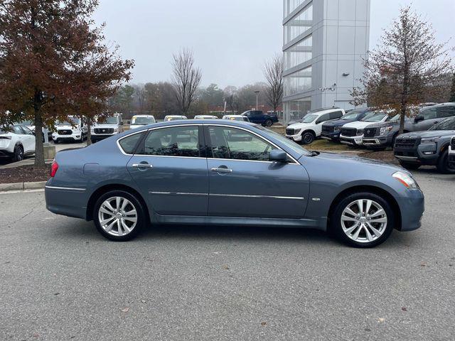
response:
[[[200,156],[197,126],[173,126],[150,131],[141,154],[156,156]]]

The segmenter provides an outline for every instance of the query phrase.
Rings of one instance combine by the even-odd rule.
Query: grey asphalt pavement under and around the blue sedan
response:
[[[415,175],[422,228],[375,249],[203,226],[114,243],[0,194],[0,340],[454,340],[455,175]]]

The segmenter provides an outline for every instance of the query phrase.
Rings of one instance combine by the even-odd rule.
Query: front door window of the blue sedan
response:
[[[223,126],[210,126],[213,158],[269,161],[274,146],[248,131]]]

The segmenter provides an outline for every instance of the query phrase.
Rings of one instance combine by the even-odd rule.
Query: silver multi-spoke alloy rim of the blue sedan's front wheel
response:
[[[341,227],[346,236],[355,242],[374,242],[387,228],[387,213],[374,200],[355,200],[343,210]]]

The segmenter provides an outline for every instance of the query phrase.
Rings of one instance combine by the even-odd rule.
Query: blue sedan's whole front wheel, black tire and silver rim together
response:
[[[362,211],[358,205],[360,200]],[[368,217],[368,205],[368,212],[373,217]],[[374,216],[376,212],[382,214]],[[338,200],[330,217],[329,232],[351,247],[369,248],[385,242],[394,227],[395,213],[387,200],[375,193],[362,192],[349,194]]]

